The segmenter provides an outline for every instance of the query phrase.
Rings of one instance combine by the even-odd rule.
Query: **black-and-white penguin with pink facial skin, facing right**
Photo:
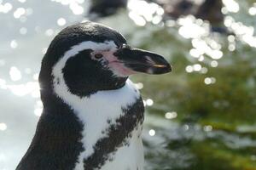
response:
[[[108,26],[67,26],[44,54],[44,109],[16,170],[142,170],[144,106],[129,76],[169,71],[164,57]]]

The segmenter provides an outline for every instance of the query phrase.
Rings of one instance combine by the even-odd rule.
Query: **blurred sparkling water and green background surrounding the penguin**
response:
[[[256,170],[255,0],[0,0],[0,170],[32,140],[49,42],[84,20],[173,66],[131,77],[146,107],[146,170]]]

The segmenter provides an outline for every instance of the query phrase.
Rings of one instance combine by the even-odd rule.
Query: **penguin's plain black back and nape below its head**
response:
[[[84,150],[81,142],[83,123],[69,105],[50,91],[41,89],[43,114],[32,144],[17,169],[74,169]]]

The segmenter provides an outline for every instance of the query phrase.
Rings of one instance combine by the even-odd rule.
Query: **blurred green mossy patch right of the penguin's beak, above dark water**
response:
[[[154,42],[167,44],[172,39],[171,43],[180,43],[172,35],[158,36],[159,32],[165,31],[152,33],[155,35]],[[143,44],[143,47],[151,49],[154,46],[151,41],[146,42],[148,43]],[[253,64],[253,54],[256,50],[243,47],[246,48],[243,50],[246,57],[243,57],[239,53],[231,54],[224,49],[224,58],[218,60],[218,67],[213,68],[201,63],[208,69],[207,74],[201,74],[185,71],[189,60],[184,51],[188,53],[189,47],[184,48],[183,52],[180,52],[180,48],[171,49],[171,74],[147,79],[144,76],[133,77],[136,82],[144,83],[146,88],[142,90],[143,95],[156,101],[157,105],[154,105],[153,109],[159,109],[160,104],[165,104],[183,118],[194,117],[200,122],[212,122],[212,125],[222,122],[223,127],[225,124],[253,124],[256,120],[256,94],[253,93],[256,90],[256,72]],[[204,82],[207,77],[214,77],[216,82],[207,85]]]

